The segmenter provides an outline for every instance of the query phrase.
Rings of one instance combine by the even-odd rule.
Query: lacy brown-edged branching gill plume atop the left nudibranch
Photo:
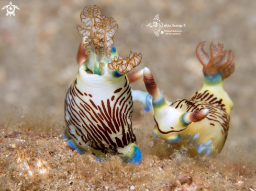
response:
[[[86,6],[80,15],[85,28],[77,25],[77,31],[84,37],[83,50],[88,56],[86,66],[93,74],[102,75],[104,70],[117,70],[126,74],[141,62],[141,54],[132,53],[122,59],[114,45],[114,35],[118,25],[113,17],[102,15],[102,10],[96,5]]]

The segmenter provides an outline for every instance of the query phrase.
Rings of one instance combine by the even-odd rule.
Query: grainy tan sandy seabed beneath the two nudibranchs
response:
[[[143,161],[123,162],[71,149],[64,123],[47,114],[16,111],[0,124],[1,190],[254,190],[255,154],[224,149],[192,157],[187,147],[152,136],[153,124],[134,128]],[[141,131],[142,129],[143,131]],[[148,133],[142,133],[148,132]]]

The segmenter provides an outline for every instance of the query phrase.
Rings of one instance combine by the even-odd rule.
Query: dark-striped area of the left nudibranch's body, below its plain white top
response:
[[[131,88],[125,79],[125,85],[117,87],[113,95],[102,99],[99,105],[95,103],[98,96],[96,98],[93,92],[81,92],[74,80],[66,93],[64,109],[67,130],[77,144],[89,142],[94,149],[105,152],[110,148],[117,153],[117,147],[136,142],[131,123]]]

